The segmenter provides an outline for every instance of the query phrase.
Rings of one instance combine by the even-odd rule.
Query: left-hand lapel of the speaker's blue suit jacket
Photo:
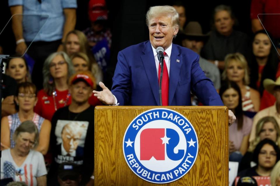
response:
[[[150,41],[146,43],[145,48],[143,49],[143,53],[141,54],[141,59],[143,62],[143,66],[145,68],[146,74],[148,76],[148,80],[154,94],[157,105],[160,105],[160,97],[159,97],[159,85],[158,85],[158,77],[157,77],[157,69],[155,67],[155,59],[153,50],[151,48]]]

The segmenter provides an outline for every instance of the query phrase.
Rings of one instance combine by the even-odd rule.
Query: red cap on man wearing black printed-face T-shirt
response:
[[[78,71],[69,78],[69,85],[73,85],[78,81],[83,81],[92,89],[96,88],[95,78],[90,71]]]

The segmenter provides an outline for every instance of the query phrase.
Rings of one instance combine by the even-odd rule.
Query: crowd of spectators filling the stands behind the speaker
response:
[[[93,92],[105,87],[99,82],[106,76],[112,44],[108,10],[104,0],[90,0],[91,25],[79,31],[74,29],[76,0],[60,1],[9,0],[12,14],[43,12],[49,18],[47,22],[42,16],[32,21],[24,15],[12,18],[17,45],[3,75],[1,179],[27,185],[94,181],[92,116],[94,107],[104,102]],[[213,10],[213,30],[205,33],[199,22],[187,22],[185,7],[176,2],[172,6],[179,15],[179,29],[173,43],[199,56],[204,75],[236,116],[229,126],[228,146],[229,161],[239,162],[238,176],[271,176],[272,186],[280,186],[280,26],[272,26],[267,15],[262,15],[262,24],[256,18],[280,10],[266,12],[274,5],[259,2],[251,2],[253,35],[234,29],[238,20],[230,6]],[[116,71],[128,69],[125,65]],[[129,102],[116,92],[110,105]],[[199,98],[194,91],[186,103],[202,105]],[[129,103],[137,101],[143,100]]]

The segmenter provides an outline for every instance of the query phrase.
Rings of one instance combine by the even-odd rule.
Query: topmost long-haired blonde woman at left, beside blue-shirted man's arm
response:
[[[96,63],[94,57],[92,56],[92,52],[90,51],[88,40],[85,34],[78,30],[70,31],[64,43],[64,52],[66,52],[69,56],[73,55],[77,52],[82,52],[86,54],[86,58],[88,58],[90,68],[89,70],[95,76],[96,83],[98,85],[99,81],[103,80],[103,74],[98,64]],[[73,58],[72,58],[73,59]]]

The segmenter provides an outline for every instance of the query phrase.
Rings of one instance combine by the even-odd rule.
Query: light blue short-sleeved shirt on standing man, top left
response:
[[[60,40],[64,27],[64,8],[77,8],[76,0],[8,0],[9,6],[22,5],[23,37],[27,42]],[[33,15],[32,15],[33,14]],[[34,15],[37,14],[37,15]],[[46,16],[48,15],[48,16]],[[48,18],[47,18],[48,17]],[[46,23],[45,23],[46,22]],[[45,23],[45,24],[44,24]]]

